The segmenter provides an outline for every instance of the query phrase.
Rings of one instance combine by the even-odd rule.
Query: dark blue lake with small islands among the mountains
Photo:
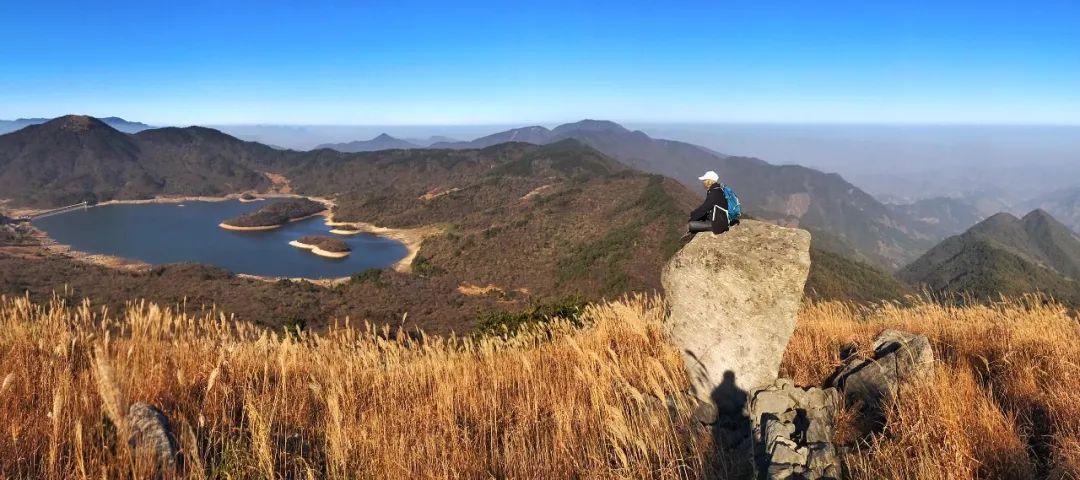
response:
[[[33,225],[80,252],[151,265],[195,262],[266,277],[348,277],[367,268],[389,267],[408,253],[396,240],[368,234],[330,234],[322,216],[266,231],[231,231],[217,226],[269,201],[102,205],[39,218]],[[308,235],[338,238],[349,244],[352,254],[325,258],[288,244]]]

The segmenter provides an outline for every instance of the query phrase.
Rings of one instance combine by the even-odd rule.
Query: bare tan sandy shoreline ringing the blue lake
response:
[[[184,203],[184,202],[195,202],[195,201],[201,201],[201,202],[222,202],[222,201],[230,201],[230,200],[240,200],[240,196],[241,195],[243,195],[243,194],[229,194],[229,195],[221,196],[221,197],[207,197],[207,196],[162,196],[162,197],[154,197],[154,198],[150,198],[150,199],[137,199],[137,200],[109,200],[109,201],[105,201],[105,202],[102,202],[102,203],[97,203],[97,204],[93,205],[92,208],[94,208],[94,206],[106,206],[106,205],[122,205],[122,204]],[[322,212],[318,212],[318,213],[314,213],[312,215],[308,215],[308,216],[300,217],[300,218],[295,218],[295,219],[292,219],[289,222],[297,222],[297,221],[308,219],[308,218],[311,218],[311,217],[314,217],[314,216],[323,216],[325,218],[324,219],[324,225],[326,225],[327,227],[351,227],[351,229],[348,229],[348,230],[340,230],[340,229],[334,229],[334,228],[332,228],[330,232],[333,232],[333,234],[336,234],[336,235],[348,235],[348,236],[353,236],[353,235],[359,235],[359,234],[370,234],[370,235],[376,235],[376,236],[379,236],[379,237],[384,237],[384,238],[389,238],[389,239],[396,240],[396,241],[401,242],[405,246],[406,254],[405,254],[404,257],[402,257],[397,262],[391,264],[388,268],[392,268],[394,271],[399,271],[399,272],[402,272],[402,274],[410,274],[413,271],[413,261],[416,259],[417,255],[419,255],[419,253],[420,253],[420,245],[423,243],[423,240],[426,238],[428,238],[428,237],[438,235],[438,234],[441,234],[443,231],[443,229],[441,227],[438,227],[438,226],[427,226],[427,227],[418,227],[418,228],[388,228],[388,227],[379,227],[379,226],[377,226],[375,224],[369,224],[369,223],[365,223],[365,222],[338,222],[338,221],[334,219],[334,213],[332,211],[333,208],[336,206],[337,204],[332,199],[328,199],[328,198],[325,198],[325,197],[312,197],[312,196],[305,196],[305,195],[297,195],[297,194],[260,194],[259,195],[259,199],[258,200],[254,200],[254,201],[261,201],[261,200],[274,199],[274,198],[307,198],[307,199],[320,202],[320,203],[322,203],[323,205],[326,206],[326,209],[323,210]],[[8,203],[6,201],[0,202],[0,206],[6,206],[6,203]],[[8,213],[11,214],[12,216],[15,216],[16,214],[18,214],[18,215],[33,215],[36,213],[46,212],[49,210],[50,209],[10,209],[10,210],[8,210]],[[220,224],[218,226],[221,227],[221,228],[225,228],[225,229],[229,229],[229,230],[232,230],[233,228],[255,228],[257,230],[247,230],[247,231],[258,231],[258,230],[268,231],[268,230],[281,228],[281,227],[284,226],[284,224],[283,225],[272,226],[272,227],[233,227],[233,228],[229,228],[229,227],[221,226]],[[84,262],[84,263],[87,263],[87,264],[91,264],[91,265],[98,265],[98,266],[103,266],[103,267],[107,267],[107,268],[114,268],[114,269],[124,270],[124,271],[144,271],[145,272],[145,271],[149,271],[151,268],[153,268],[153,265],[148,264],[148,263],[143,262],[143,261],[134,259],[134,258],[125,258],[125,257],[113,256],[113,255],[103,255],[103,254],[95,254],[95,253],[89,253],[89,252],[78,251],[78,250],[72,249],[71,245],[62,244],[62,243],[56,242],[56,240],[54,240],[53,238],[49,237],[49,234],[46,234],[44,230],[41,230],[41,229],[35,227],[32,225],[32,223],[30,224],[30,227],[35,231],[35,238],[37,238],[37,239],[39,239],[41,241],[41,245],[40,246],[32,246],[35,250],[40,249],[40,251],[43,251],[43,252],[45,252],[48,254],[59,255],[59,256],[64,256],[64,257],[67,257],[67,258],[71,258],[73,261]],[[334,230],[339,230],[341,232],[337,232],[337,231],[334,231]],[[237,230],[237,231],[243,231],[243,230]],[[294,245],[294,246],[296,246],[296,245]],[[8,248],[3,248],[3,249],[8,250]],[[26,249],[26,248],[18,248],[18,249]],[[324,253],[329,254],[329,255],[323,255],[323,256],[326,256],[328,258],[339,258],[337,256],[333,256],[333,255],[337,255],[335,252],[325,252],[324,251]],[[350,277],[335,277],[335,278],[270,277],[270,276],[260,276],[260,275],[252,275],[252,274],[240,274],[240,272],[233,272],[233,275],[235,275],[237,278],[259,280],[259,281],[266,281],[266,282],[276,282],[276,281],[280,281],[280,280],[308,281],[308,282],[311,282],[311,283],[314,283],[314,284],[318,284],[318,285],[321,285],[321,286],[334,286],[334,285],[342,284],[342,283],[349,281],[349,278],[350,278]]]

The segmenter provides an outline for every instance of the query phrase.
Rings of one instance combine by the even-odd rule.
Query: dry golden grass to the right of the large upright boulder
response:
[[[1037,298],[989,306],[810,305],[781,375],[820,384],[839,347],[881,330],[926,334],[930,382],[902,391],[881,435],[852,441],[853,478],[1080,478],[1080,321]]]

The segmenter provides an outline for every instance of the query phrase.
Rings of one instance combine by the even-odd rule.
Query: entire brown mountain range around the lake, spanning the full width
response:
[[[515,141],[498,142],[510,138]],[[516,142],[521,138],[531,142]],[[403,141],[380,135],[370,142]],[[334,198],[339,219],[395,228],[440,225],[445,230],[423,244],[426,274],[395,277],[392,295],[354,286],[365,298],[379,299],[357,310],[360,306],[334,296],[320,301],[329,302],[320,315],[392,317],[406,308],[419,319],[437,317],[459,325],[477,308],[660,289],[657,272],[680,244],[686,212],[700,201],[690,188],[697,186],[694,172],[710,169],[738,188],[752,216],[813,232],[807,284],[812,298],[899,299],[921,286],[976,297],[1044,292],[1080,304],[1075,281],[1080,279],[1080,236],[1042,210],[1023,218],[998,214],[983,219],[961,199],[885,205],[838,175],[724,156],[603,121],[438,145],[368,152],[279,150],[213,129],[129,134],[94,118],[67,116],[0,135],[0,191],[16,205],[55,206],[267,191],[273,186],[270,177],[281,175],[298,192]],[[693,177],[678,182],[648,172],[658,170]],[[785,196],[786,202],[778,201]],[[932,246],[934,236],[956,234],[974,222],[978,224],[967,231],[919,250]],[[893,250],[867,248],[870,243]],[[906,266],[894,278],[878,267],[887,261]],[[46,268],[33,265],[18,275]],[[52,264],[46,268],[52,274],[41,271],[36,278],[55,278],[56,268],[62,267]],[[67,277],[81,271],[63,270]],[[184,276],[201,270],[170,271]],[[189,286],[191,281],[177,280]],[[93,286],[99,280],[83,284]],[[495,298],[455,293],[465,284],[496,285],[502,293]],[[94,293],[108,298],[110,291]],[[418,299],[432,297],[440,299]],[[230,305],[243,310],[246,304]],[[280,310],[297,315],[286,306]]]

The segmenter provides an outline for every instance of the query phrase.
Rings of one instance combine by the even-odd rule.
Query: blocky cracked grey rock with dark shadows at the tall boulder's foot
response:
[[[835,388],[799,388],[781,378],[752,392],[751,399],[757,478],[840,478],[833,444],[840,405]]]

